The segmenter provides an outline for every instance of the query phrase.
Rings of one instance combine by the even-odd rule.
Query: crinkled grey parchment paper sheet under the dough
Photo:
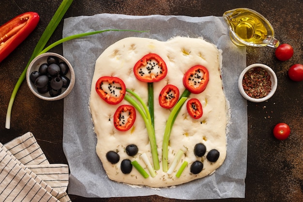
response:
[[[63,149],[70,167],[68,193],[84,197],[130,197],[159,195],[175,199],[244,198],[247,159],[247,105],[237,80],[246,66],[245,47],[229,39],[222,17],[125,16],[100,14],[64,20],[63,37],[105,29],[150,30],[104,32],[63,44],[63,55],[73,65],[76,83],[64,98]],[[222,79],[230,103],[231,124],[227,132],[227,157],[212,175],[187,184],[154,189],[135,188],[109,180],[95,152],[96,135],[89,111],[91,78],[96,59],[106,47],[125,37],[148,37],[167,41],[174,36],[203,37],[223,51]],[[106,144],[106,142],[105,142]]]

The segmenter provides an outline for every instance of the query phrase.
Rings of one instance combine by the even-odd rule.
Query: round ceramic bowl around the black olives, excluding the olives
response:
[[[38,93],[37,87],[30,80],[30,74],[33,71],[38,71],[41,64],[47,63],[47,58],[49,56],[57,57],[59,59],[59,62],[66,62],[66,64],[68,65],[68,68],[69,68],[69,71],[65,76],[70,79],[70,84],[68,85],[67,88],[61,88],[61,93],[57,96],[51,96],[48,92],[47,93]],[[74,88],[74,84],[75,84],[75,72],[74,72],[74,69],[73,69],[71,63],[68,62],[63,56],[61,56],[60,54],[57,54],[57,53],[47,52],[47,53],[43,53],[43,54],[37,56],[30,62],[30,65],[29,65],[27,73],[26,73],[26,80],[27,80],[27,84],[30,88],[30,91],[34,95],[36,95],[37,97],[39,97],[40,99],[43,99],[43,100],[54,101],[54,100],[60,100],[64,97],[66,97],[69,93],[71,93],[71,91]]]

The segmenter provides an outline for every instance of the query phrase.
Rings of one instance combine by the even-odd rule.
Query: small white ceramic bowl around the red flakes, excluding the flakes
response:
[[[242,80],[243,80],[243,77],[244,75],[250,71],[250,70],[253,70],[254,68],[257,68],[257,67],[260,67],[260,68],[263,68],[265,69],[268,74],[270,75],[270,78],[271,78],[271,81],[272,81],[272,89],[271,89],[271,92],[268,93],[265,97],[262,97],[262,98],[253,98],[253,97],[250,97],[248,96],[244,89],[243,89],[243,85],[242,85]],[[265,65],[265,64],[260,64],[260,63],[255,63],[255,64],[251,64],[249,66],[247,66],[243,71],[242,73],[240,74],[239,76],[239,80],[238,80],[238,88],[239,88],[239,91],[240,93],[242,94],[242,96],[251,101],[251,102],[264,102],[266,100],[268,100],[269,98],[271,98],[273,96],[273,94],[275,93],[276,89],[277,89],[277,76],[275,75],[275,73],[273,72],[273,69],[270,68],[269,66]]]

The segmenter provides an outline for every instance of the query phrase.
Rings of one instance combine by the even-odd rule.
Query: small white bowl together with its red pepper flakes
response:
[[[242,96],[251,102],[264,102],[277,89],[277,76],[272,68],[255,63],[247,66],[239,76],[238,88]]]

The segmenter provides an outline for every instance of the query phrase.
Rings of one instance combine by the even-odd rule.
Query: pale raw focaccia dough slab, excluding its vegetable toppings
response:
[[[158,54],[166,62],[167,76],[161,81],[153,83],[154,125],[160,169],[156,171],[157,175],[155,177],[150,175],[150,177],[144,179],[134,167],[129,174],[123,174],[120,169],[123,159],[136,160],[141,166],[145,167],[140,158],[142,153],[146,153],[152,163],[151,147],[142,117],[136,112],[136,122],[129,131],[121,132],[115,129],[113,114],[119,105],[129,103],[123,100],[118,106],[107,104],[96,93],[95,84],[98,78],[103,76],[121,78],[126,88],[137,93],[147,104],[147,83],[136,79],[133,68],[138,60],[149,53]],[[181,177],[177,178],[175,175],[182,162],[178,163],[171,175],[162,171],[163,134],[171,109],[164,109],[159,106],[158,95],[167,84],[177,86],[181,94],[184,90],[182,83],[184,73],[197,64],[208,69],[209,83],[204,92],[200,94],[191,93],[189,97],[200,100],[203,107],[203,116],[198,120],[191,118],[187,113],[185,102],[173,125],[168,150],[168,168],[180,149],[186,153],[182,156],[182,161],[188,162]],[[163,187],[179,185],[202,178],[213,173],[215,169],[222,165],[226,157],[227,116],[226,99],[220,73],[221,52],[214,45],[199,38],[175,37],[167,42],[160,42],[153,39],[130,37],[108,47],[96,61],[90,98],[94,131],[97,135],[96,153],[102,161],[107,176],[111,180],[127,184]],[[199,142],[203,143],[207,149],[206,154],[202,157],[194,155],[194,147]],[[137,145],[139,151],[136,156],[126,154],[125,147],[129,144]],[[211,149],[217,149],[220,152],[219,159],[215,163],[206,159],[206,155]],[[120,161],[117,164],[111,164],[107,161],[106,153],[108,151],[118,151]],[[203,162],[203,170],[198,174],[192,174],[190,166],[196,160]],[[147,168],[145,170],[149,173]]]

